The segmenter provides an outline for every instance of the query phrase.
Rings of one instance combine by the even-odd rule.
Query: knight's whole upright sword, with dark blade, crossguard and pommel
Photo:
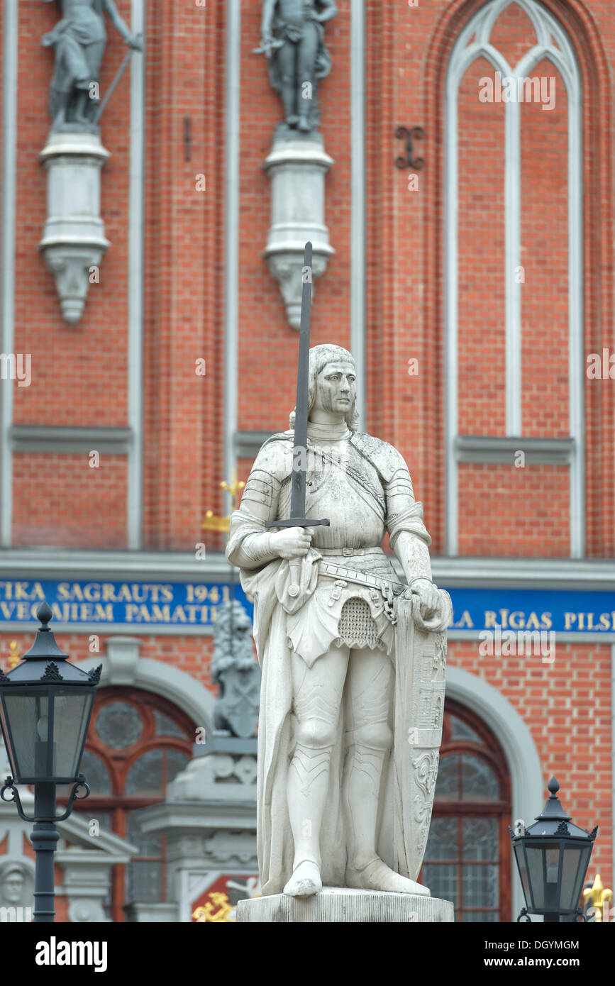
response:
[[[297,404],[295,407],[295,436],[293,439],[293,480],[291,487],[291,516],[288,521],[267,521],[265,528],[329,527],[328,520],[314,521],[306,517],[306,471],[308,460],[308,382],[309,382],[309,311],[311,305],[311,244],[306,244],[302,272],[302,317],[299,330],[299,368],[297,370]],[[291,558],[289,596],[300,593],[301,558]]]

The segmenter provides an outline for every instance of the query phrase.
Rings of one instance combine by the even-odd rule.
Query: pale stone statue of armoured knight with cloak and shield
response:
[[[416,880],[438,769],[450,599],[432,582],[408,467],[357,431],[355,405],[351,354],[311,348],[306,517],[329,527],[265,529],[290,516],[294,415],[260,449],[231,518],[227,558],[254,599],[263,669],[263,894],[309,895],[323,883],[430,892]],[[385,532],[407,585],[381,547]]]

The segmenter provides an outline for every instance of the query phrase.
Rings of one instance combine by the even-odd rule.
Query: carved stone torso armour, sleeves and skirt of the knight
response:
[[[390,655],[393,599],[405,586],[381,548],[382,538],[388,531],[393,549],[404,530],[431,542],[408,467],[392,446],[371,435],[353,433],[345,423],[311,422],[306,466],[306,517],[328,518],[330,526],[313,528],[311,546],[321,556],[317,585],[299,612],[289,615],[288,644],[308,666],[332,641]],[[276,533],[264,533],[264,524],[290,517],[292,469],[293,432],[273,435],[243,490],[238,513],[252,532],[228,551],[233,564],[257,569],[277,557],[271,542]],[[232,535],[234,527],[232,519]]]

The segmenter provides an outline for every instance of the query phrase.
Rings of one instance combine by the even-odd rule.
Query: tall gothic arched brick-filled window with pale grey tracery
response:
[[[581,115],[546,7],[481,7],[445,81],[447,554],[584,553]]]

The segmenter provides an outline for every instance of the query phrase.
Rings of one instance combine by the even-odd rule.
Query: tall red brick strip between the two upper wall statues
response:
[[[145,543],[185,550],[202,539],[205,510],[221,512],[219,483],[230,478],[222,476],[220,443],[224,5],[150,0],[147,37]]]

